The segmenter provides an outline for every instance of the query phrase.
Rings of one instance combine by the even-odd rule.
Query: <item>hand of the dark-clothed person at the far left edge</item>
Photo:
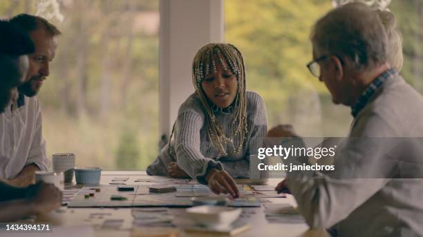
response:
[[[62,192],[51,183],[41,183],[31,201],[35,214],[45,214],[62,206]]]

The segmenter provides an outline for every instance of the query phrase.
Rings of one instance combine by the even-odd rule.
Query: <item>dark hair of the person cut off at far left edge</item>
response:
[[[0,54],[20,56],[35,52],[30,36],[8,21],[0,20]]]

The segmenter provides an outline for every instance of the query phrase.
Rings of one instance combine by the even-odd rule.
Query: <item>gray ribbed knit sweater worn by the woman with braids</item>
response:
[[[234,154],[232,145],[227,144],[225,146],[227,156],[216,158],[219,150],[207,136],[205,124],[207,113],[198,95],[191,94],[179,108],[170,149],[169,145],[163,147],[156,160],[147,167],[147,174],[169,176],[167,165],[177,161],[181,169],[191,178],[198,178],[201,183],[204,183],[203,176],[207,173],[207,169],[212,167],[225,169],[234,178],[249,177],[250,149],[261,145],[262,138],[267,132],[267,116],[265,103],[259,94],[246,92],[246,100],[248,132],[241,154]],[[232,114],[218,110],[215,115],[226,136],[229,136]],[[235,147],[238,147],[238,143],[234,143]]]

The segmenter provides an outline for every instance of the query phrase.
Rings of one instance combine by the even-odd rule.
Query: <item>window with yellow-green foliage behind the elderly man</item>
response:
[[[423,92],[423,1],[392,1],[404,37],[402,75]],[[333,105],[306,68],[312,59],[312,24],[332,10],[332,1],[225,0],[225,40],[243,53],[247,90],[265,99],[269,127],[294,125],[301,136],[346,136],[350,108]]]

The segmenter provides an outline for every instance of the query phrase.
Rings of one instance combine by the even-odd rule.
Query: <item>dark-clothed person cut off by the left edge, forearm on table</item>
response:
[[[17,87],[26,79],[28,54],[34,52],[34,45],[28,34],[7,21],[0,21],[0,32],[1,114],[13,109],[12,101],[17,100]],[[0,194],[0,222],[49,212],[60,207],[62,200],[59,189],[46,183],[13,187],[0,180]]]

